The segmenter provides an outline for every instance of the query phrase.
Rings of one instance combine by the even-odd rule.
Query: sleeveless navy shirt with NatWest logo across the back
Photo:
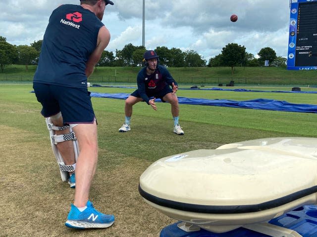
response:
[[[50,16],[34,82],[87,87],[86,62],[104,24],[80,5],[64,4]]]

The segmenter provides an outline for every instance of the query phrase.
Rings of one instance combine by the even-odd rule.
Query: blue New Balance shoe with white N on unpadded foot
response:
[[[83,212],[71,204],[65,226],[76,229],[107,228],[110,227],[113,222],[113,215],[106,215],[97,211],[93,204],[88,201],[87,208]]]

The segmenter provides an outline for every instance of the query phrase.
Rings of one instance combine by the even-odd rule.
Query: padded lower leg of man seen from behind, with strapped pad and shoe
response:
[[[45,121],[50,131],[51,146],[59,166],[61,179],[64,182],[68,181],[70,188],[75,188],[75,168],[79,155],[79,147],[72,128],[77,124],[64,125],[60,119],[61,113],[59,112],[54,116],[46,118]],[[60,126],[61,124],[62,126]]]

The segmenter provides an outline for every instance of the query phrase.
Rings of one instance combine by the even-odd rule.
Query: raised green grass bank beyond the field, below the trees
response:
[[[8,65],[0,73],[0,81],[32,81],[36,65],[30,65],[26,72],[23,65]],[[92,83],[135,83],[140,67],[97,67],[90,77]],[[182,84],[218,85],[282,85],[317,86],[316,72],[294,71],[277,67],[235,67],[231,75],[230,67],[168,68],[169,72]]]

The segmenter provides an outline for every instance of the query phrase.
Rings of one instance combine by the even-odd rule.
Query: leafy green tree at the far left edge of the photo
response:
[[[0,68],[3,73],[4,67],[16,63],[18,51],[15,45],[6,42],[4,37],[0,37]]]

